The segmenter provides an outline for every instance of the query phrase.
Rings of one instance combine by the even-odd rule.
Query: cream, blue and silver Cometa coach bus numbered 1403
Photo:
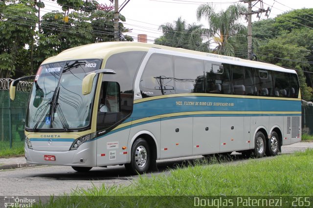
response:
[[[102,42],[46,59],[25,119],[29,164],[125,165],[240,152],[275,156],[301,140],[294,70],[139,42]],[[20,78],[11,83],[10,97]]]

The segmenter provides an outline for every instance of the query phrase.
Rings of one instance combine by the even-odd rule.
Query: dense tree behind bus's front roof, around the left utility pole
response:
[[[68,1],[68,4],[66,2]],[[94,0],[71,1],[58,0],[63,3],[63,12],[52,11],[43,16],[41,31],[38,33],[35,51],[37,66],[46,58],[75,46],[94,42],[114,41],[114,12],[99,10]],[[120,21],[126,21],[120,15]],[[121,41],[133,41],[130,36],[123,36],[129,30],[119,23]]]

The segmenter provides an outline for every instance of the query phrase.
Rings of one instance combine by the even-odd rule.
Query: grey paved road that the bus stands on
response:
[[[313,143],[297,143],[283,146],[282,153],[291,153],[313,148]],[[168,167],[175,168],[188,162],[193,162],[197,157],[160,160],[157,162],[159,171],[154,175],[169,174]],[[246,161],[240,155],[233,155],[234,161]],[[271,159],[273,157],[268,157]],[[150,176],[151,174],[148,174]],[[109,166],[108,168],[95,167],[88,173],[77,173],[67,166],[35,166],[0,171],[0,196],[47,196],[63,195],[70,193],[77,187],[88,188],[92,185],[100,187],[112,185],[129,185],[138,176],[129,175],[124,166]]]

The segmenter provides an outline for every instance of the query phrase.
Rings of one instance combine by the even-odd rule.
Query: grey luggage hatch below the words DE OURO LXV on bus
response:
[[[220,152],[220,117],[194,117],[192,155]]]

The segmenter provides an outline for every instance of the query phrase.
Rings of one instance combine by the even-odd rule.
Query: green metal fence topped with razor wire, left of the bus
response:
[[[15,100],[10,100],[12,79],[0,79],[0,151],[24,145],[25,113],[32,83],[20,82]]]

